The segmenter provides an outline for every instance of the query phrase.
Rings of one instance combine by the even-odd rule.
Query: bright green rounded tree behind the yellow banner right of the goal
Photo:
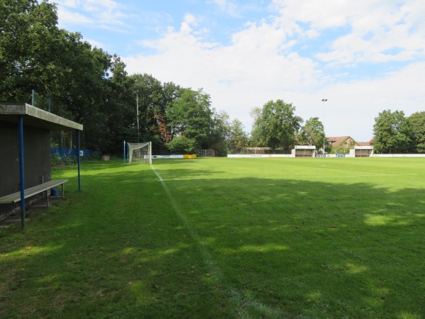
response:
[[[186,152],[198,152],[201,145],[208,142],[212,127],[210,103],[210,96],[202,89],[183,89],[180,98],[171,102],[166,113],[173,137],[169,150],[176,151],[177,143],[181,150],[182,143],[186,142]]]

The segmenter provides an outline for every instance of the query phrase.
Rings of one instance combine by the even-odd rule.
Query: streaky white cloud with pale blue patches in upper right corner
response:
[[[425,56],[425,23],[418,14],[418,11],[422,16],[425,14],[425,6],[419,1],[275,0],[273,3],[280,14],[276,22],[294,33],[315,32],[316,36],[326,36],[327,30],[348,29],[348,33],[329,39],[327,50],[317,53],[316,57],[324,62],[344,65],[407,61]]]

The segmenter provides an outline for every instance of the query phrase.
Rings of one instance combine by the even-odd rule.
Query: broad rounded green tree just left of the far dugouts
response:
[[[295,144],[302,118],[295,116],[295,106],[282,100],[268,101],[254,118],[254,141],[266,147],[289,149]]]

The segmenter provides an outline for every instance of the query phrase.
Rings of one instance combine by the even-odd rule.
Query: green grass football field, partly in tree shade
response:
[[[0,318],[425,318],[422,158],[75,167],[0,228]]]

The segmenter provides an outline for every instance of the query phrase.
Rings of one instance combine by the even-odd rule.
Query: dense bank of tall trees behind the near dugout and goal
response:
[[[35,106],[49,101],[52,113],[84,125],[82,146],[91,150],[120,153],[123,140],[140,138],[160,152],[227,153],[229,116],[211,109],[208,94],[129,76],[118,55],[58,28],[48,1],[0,0],[0,78],[0,101],[31,103],[35,91]]]

